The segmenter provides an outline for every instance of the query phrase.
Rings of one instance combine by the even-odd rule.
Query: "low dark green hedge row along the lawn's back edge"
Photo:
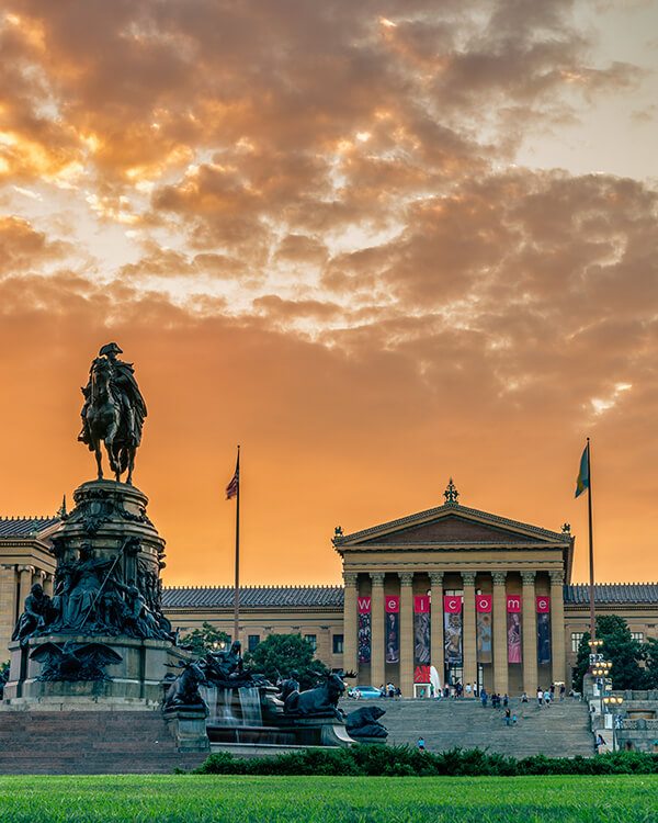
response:
[[[238,758],[228,752],[212,754],[194,769],[197,775],[351,775],[475,777],[521,775],[653,775],[658,756],[640,752],[616,752],[597,757],[546,757],[517,759],[479,748],[453,748],[440,754],[408,746],[360,745],[350,748],[306,748],[275,757]]]

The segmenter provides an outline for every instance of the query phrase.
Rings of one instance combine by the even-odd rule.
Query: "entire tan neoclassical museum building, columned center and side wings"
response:
[[[239,640],[252,650],[271,632],[299,632],[328,666],[361,685],[394,683],[404,696],[441,681],[477,683],[500,694],[571,684],[589,587],[572,585],[575,540],[445,503],[351,534],[336,530],[343,586],[240,589]],[[50,537],[57,518],[0,519],[0,645],[7,649],[30,586],[52,591]],[[175,551],[175,546],[170,546]],[[164,612],[186,633],[203,622],[232,631],[230,587],[171,587]],[[658,586],[595,587],[597,613],[624,617],[638,640],[656,638]],[[1,659],[1,654],[0,654]]]

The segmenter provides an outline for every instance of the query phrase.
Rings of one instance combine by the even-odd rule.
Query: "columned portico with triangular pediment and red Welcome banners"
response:
[[[415,677],[428,681],[431,662],[441,683],[461,678],[500,695],[532,695],[540,658],[542,680],[567,680],[563,583],[574,551],[568,529],[547,531],[465,508],[457,497],[451,482],[443,506],[352,534],[337,532],[345,579],[345,668],[358,666],[356,593],[367,591],[356,575],[362,584],[370,575],[371,664],[362,666],[361,685],[397,679],[410,697]]]

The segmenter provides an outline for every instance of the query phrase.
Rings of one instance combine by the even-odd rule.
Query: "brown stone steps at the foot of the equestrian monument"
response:
[[[179,753],[159,711],[1,711],[1,775],[171,774]]]

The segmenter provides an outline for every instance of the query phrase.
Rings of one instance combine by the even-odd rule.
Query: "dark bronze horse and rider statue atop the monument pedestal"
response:
[[[122,350],[115,342],[99,351],[89,370],[89,381],[82,394],[82,431],[78,440],[95,452],[99,480],[103,477],[101,442],[117,482],[127,471],[126,483],[133,482],[135,452],[141,442],[141,427],[146,418],[146,403],[135,380],[132,363],[118,360]]]

